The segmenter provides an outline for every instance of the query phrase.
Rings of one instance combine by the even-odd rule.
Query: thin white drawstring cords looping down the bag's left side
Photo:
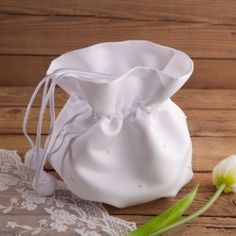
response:
[[[75,69],[58,69],[58,70],[55,70],[53,73],[45,76],[44,79],[36,87],[25,111],[25,117],[23,121],[23,133],[25,137],[28,139],[32,149],[36,151],[36,158],[39,160],[39,164],[36,167],[36,175],[34,179],[34,186],[39,193],[40,193],[39,182],[40,184],[43,184],[43,182],[40,181],[40,177],[41,177],[41,173],[43,173],[43,168],[47,161],[48,147],[49,147],[49,143],[52,137],[52,131],[54,128],[54,123],[55,123],[55,98],[54,98],[55,87],[58,84],[58,82],[65,76],[70,79],[80,79],[80,80],[85,79],[86,81],[94,81],[95,79],[99,79],[99,81],[96,80],[96,82],[104,82],[104,81],[107,81],[108,79],[111,80],[115,78],[114,76],[101,74],[101,73],[90,73],[90,72],[85,72],[85,71],[80,71],[80,70],[75,70]],[[49,83],[50,83],[50,86],[48,86]],[[32,141],[32,139],[27,133],[27,123],[29,120],[31,107],[35,101],[35,98],[38,92],[40,91],[43,85],[44,85],[44,89],[43,89],[41,108],[40,108],[40,113],[39,113],[39,118],[38,118],[38,123],[37,123],[36,142],[34,145],[34,142]],[[49,128],[48,138],[44,144],[43,154],[40,154],[42,124],[43,124],[43,118],[44,118],[44,114],[45,114],[48,104],[49,104],[49,110],[50,110],[50,128]],[[45,174],[47,173],[45,172],[44,175]],[[50,193],[51,192],[52,191],[50,191]]]

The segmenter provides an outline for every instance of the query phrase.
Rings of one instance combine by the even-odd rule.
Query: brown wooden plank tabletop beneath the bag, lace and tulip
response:
[[[16,149],[22,158],[29,145],[23,137],[20,127],[32,91],[31,87],[2,87],[0,89],[1,147]],[[196,183],[201,183],[201,188],[187,214],[202,206],[215,191],[211,183],[212,168],[219,160],[236,152],[235,95],[236,90],[234,89],[183,89],[176,94],[173,100],[183,108],[189,117],[188,122],[193,141],[194,179],[181,190],[176,199],[159,199],[125,209],[117,209],[107,205],[106,208],[110,214],[143,224],[153,215],[176,202]],[[67,96],[58,90],[56,97],[57,109],[60,109]],[[35,127],[32,124],[36,121],[38,110],[39,100],[36,100],[29,125],[29,132],[32,135],[35,134]],[[45,123],[48,124],[47,118]],[[45,130],[44,138],[46,133]],[[49,164],[45,169],[57,176]],[[235,217],[236,196],[235,194],[224,194],[202,217],[169,232],[167,235],[235,235]]]

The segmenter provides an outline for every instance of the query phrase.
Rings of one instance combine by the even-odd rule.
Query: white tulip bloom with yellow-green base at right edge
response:
[[[214,167],[212,177],[216,188],[225,184],[225,193],[236,192],[236,155],[220,161]]]

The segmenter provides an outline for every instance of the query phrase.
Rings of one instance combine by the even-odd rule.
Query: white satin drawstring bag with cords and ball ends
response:
[[[192,71],[185,53],[139,40],[100,43],[53,60],[23,122],[37,192],[50,195],[56,188],[43,170],[49,161],[81,199],[127,207],[175,196],[193,176],[192,145],[186,116],[170,97]],[[57,117],[56,85],[69,95]],[[34,143],[26,128],[42,87]],[[47,107],[51,125],[42,145]]]

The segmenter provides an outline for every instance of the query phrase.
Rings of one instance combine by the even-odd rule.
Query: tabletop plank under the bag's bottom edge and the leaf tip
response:
[[[58,178],[56,172],[50,172]],[[163,210],[169,208],[178,199],[184,197],[193,186],[200,183],[198,194],[194,199],[191,208],[187,210],[186,215],[191,214],[191,212],[196,211],[202,205],[204,205],[214,194],[215,187],[212,184],[212,174],[211,173],[194,173],[194,178],[178,193],[178,195],[173,198],[161,198],[148,202],[145,204],[140,204],[137,206],[127,207],[124,209],[119,209],[110,205],[106,205],[106,209],[112,215],[157,215]],[[218,216],[218,217],[236,217],[236,196],[235,194],[222,194],[217,200],[217,204],[214,204],[203,216]]]

